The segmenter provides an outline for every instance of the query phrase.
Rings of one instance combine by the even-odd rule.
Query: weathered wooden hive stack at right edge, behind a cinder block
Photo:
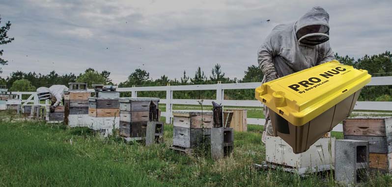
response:
[[[369,167],[392,171],[392,117],[352,117],[343,121],[344,139],[369,141]]]

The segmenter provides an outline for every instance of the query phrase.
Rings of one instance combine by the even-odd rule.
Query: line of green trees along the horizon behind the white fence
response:
[[[345,65],[353,66],[356,69],[367,70],[372,76],[391,76],[392,75],[392,54],[385,51],[378,55],[365,55],[362,58],[354,59],[349,56],[335,55],[336,60]],[[222,83],[245,83],[261,82],[263,72],[255,65],[247,68],[242,79],[229,78],[225,75],[220,64],[216,64],[210,71],[209,75],[201,68],[197,68],[194,75],[189,76],[184,70],[180,79],[169,79],[168,76],[162,75],[158,79],[152,79],[146,70],[136,69],[131,72],[127,80],[120,82],[119,87],[132,86],[166,86],[175,85],[198,85],[198,84],[216,84]],[[10,73],[6,78],[0,78],[0,85],[6,85],[10,91],[35,91],[36,88],[44,86],[50,87],[55,84],[68,85],[69,82],[86,82],[89,87],[93,84],[113,85],[110,79],[111,72],[98,72],[88,68],[83,73],[75,75],[74,73],[59,75],[52,71],[47,75],[35,72],[15,71]],[[224,99],[232,100],[252,100],[254,99],[254,90],[225,90]],[[130,96],[130,93],[121,93],[122,96]],[[392,101],[392,86],[370,86],[365,87],[360,95],[359,100],[369,101]],[[138,92],[139,97],[160,97],[165,98],[166,92]],[[173,93],[176,99],[214,99],[216,91],[176,91]]]

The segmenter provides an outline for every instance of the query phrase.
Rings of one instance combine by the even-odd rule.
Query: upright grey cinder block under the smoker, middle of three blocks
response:
[[[234,148],[233,128],[211,128],[211,156],[218,160],[230,155]]]

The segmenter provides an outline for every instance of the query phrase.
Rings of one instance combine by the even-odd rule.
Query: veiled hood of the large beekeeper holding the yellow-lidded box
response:
[[[316,46],[327,42],[330,26],[329,14],[323,8],[316,6],[302,16],[295,24],[295,33],[300,44]]]

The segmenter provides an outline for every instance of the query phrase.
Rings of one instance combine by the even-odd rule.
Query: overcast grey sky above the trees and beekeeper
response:
[[[1,76],[91,67],[119,83],[137,68],[173,79],[198,66],[210,75],[219,63],[241,79],[275,25],[316,5],[330,14],[338,54],[392,49],[392,0],[1,0],[1,25],[11,21],[15,38],[0,47],[9,61]]]

